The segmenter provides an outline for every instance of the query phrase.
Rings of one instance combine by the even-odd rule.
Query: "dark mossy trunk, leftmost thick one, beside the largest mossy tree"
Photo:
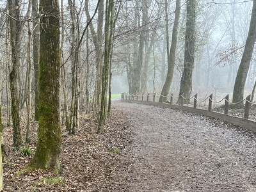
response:
[[[19,0],[8,0],[8,9],[10,13],[10,40],[12,45],[12,67],[10,70],[10,93],[12,100],[12,124],[13,124],[13,147],[19,148],[22,144],[20,134],[20,98],[18,85],[18,68],[20,61],[20,11]]]

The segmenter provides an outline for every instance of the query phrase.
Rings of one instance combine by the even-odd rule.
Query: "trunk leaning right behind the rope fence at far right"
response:
[[[252,16],[243,56],[239,65],[233,91],[233,103],[240,102],[244,97],[244,86],[252,59],[253,47],[256,40],[256,0],[253,0]],[[233,104],[233,108],[242,108],[243,102]]]

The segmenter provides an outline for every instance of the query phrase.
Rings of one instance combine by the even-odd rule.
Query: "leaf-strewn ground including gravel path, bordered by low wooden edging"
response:
[[[24,127],[24,126],[23,126]],[[36,131],[29,148],[35,152]],[[256,134],[194,113],[113,102],[100,134],[90,115],[81,115],[76,135],[63,129],[63,173],[38,170],[19,176],[31,157],[12,148],[4,191],[256,191]]]

